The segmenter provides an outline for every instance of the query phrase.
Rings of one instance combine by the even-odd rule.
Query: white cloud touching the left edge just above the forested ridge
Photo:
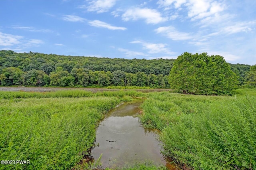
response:
[[[22,36],[14,36],[12,34],[5,34],[0,32],[0,45],[1,46],[12,46],[21,43]]]

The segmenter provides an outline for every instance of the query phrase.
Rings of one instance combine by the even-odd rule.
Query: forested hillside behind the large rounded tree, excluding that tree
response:
[[[168,76],[174,61],[175,59],[162,58],[110,59],[0,50],[0,85],[169,88]],[[230,67],[238,75],[239,85],[246,85],[251,66],[230,64]]]

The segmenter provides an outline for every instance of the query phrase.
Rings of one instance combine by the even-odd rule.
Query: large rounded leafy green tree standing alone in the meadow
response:
[[[170,71],[169,83],[188,94],[230,95],[238,83],[236,74],[220,55],[183,53]]]

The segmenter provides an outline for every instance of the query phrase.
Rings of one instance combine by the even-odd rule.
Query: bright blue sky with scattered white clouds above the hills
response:
[[[0,0],[0,49],[256,64],[256,0]]]

